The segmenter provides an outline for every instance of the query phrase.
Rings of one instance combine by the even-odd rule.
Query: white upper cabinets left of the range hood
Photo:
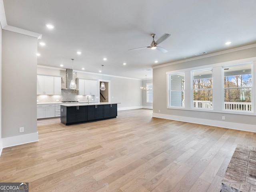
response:
[[[61,95],[61,77],[37,75],[37,95]]]

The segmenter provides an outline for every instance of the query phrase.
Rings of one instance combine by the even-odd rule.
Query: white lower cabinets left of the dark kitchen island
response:
[[[55,117],[55,104],[38,104],[37,119]]]

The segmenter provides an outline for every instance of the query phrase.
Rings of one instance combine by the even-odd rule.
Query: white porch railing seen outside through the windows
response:
[[[224,102],[224,106],[228,110],[252,111],[252,103],[248,102]],[[212,101],[193,101],[193,107],[212,109]]]

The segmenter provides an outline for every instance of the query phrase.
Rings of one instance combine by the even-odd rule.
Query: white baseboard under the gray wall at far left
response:
[[[2,138],[3,148],[38,141],[38,132]]]

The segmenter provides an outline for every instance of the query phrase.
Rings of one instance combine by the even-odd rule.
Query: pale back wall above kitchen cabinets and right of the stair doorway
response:
[[[38,74],[62,75],[60,69],[37,67]],[[101,74],[77,72],[77,77],[85,79],[102,79]],[[110,102],[118,104],[118,110],[142,107],[141,80],[104,75],[104,81],[110,81]]]

